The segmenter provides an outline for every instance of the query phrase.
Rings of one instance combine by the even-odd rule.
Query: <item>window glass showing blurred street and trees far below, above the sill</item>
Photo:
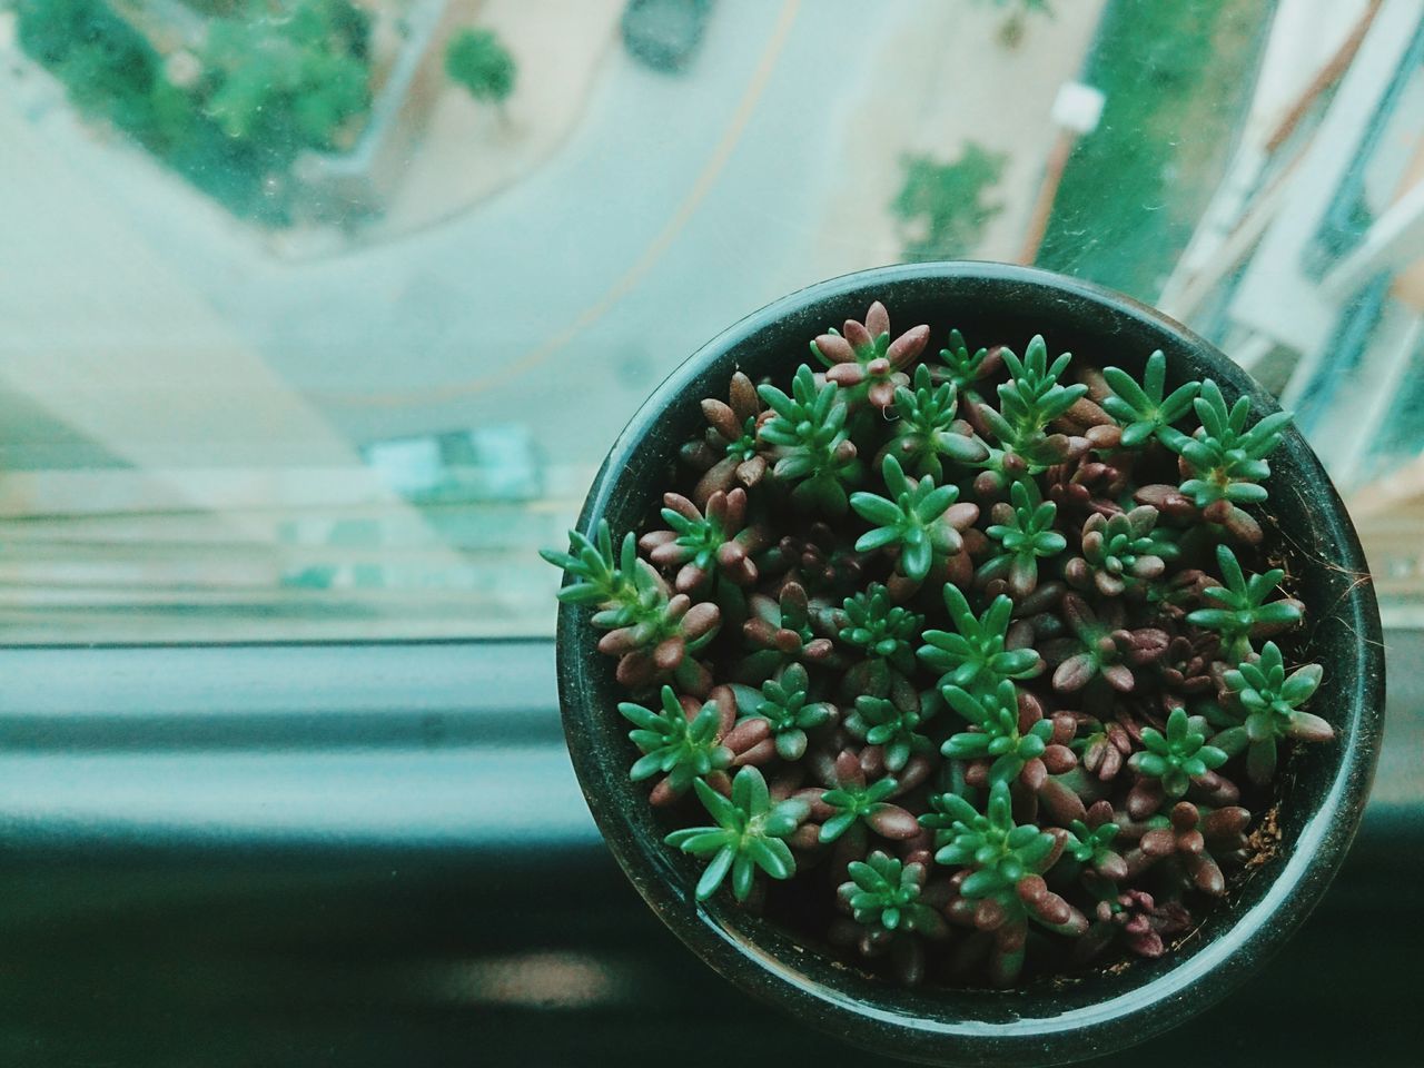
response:
[[[550,634],[535,548],[656,382],[917,259],[1161,305],[1368,540],[1421,57],[1394,0],[0,0],[3,639]]]

